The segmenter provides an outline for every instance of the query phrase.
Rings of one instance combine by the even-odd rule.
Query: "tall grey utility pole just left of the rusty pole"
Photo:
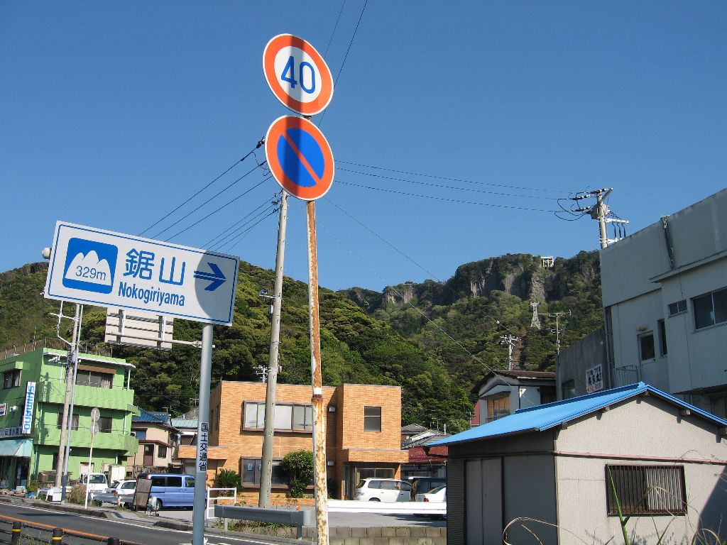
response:
[[[260,496],[257,506],[270,507],[270,487],[273,483],[273,439],[275,433],[275,397],[278,384],[278,354],[280,347],[280,315],[283,307],[283,265],[285,260],[285,232],[288,222],[288,193],[281,193],[278,220],[278,253],[275,262],[273,288],[273,316],[270,320],[270,352],[268,352],[268,384],[265,387],[265,429],[262,432],[262,469]]]

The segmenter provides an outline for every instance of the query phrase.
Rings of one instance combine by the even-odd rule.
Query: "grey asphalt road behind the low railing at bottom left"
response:
[[[0,528],[7,530],[14,520],[28,525],[47,528],[60,527],[86,538],[64,538],[63,543],[89,545],[105,543],[108,537],[119,538],[129,544],[141,545],[190,545],[192,533],[167,528],[153,528],[133,521],[116,521],[84,514],[57,512],[41,507],[0,503]],[[23,530],[23,534],[31,533]],[[37,534],[36,534],[37,535]],[[45,539],[49,533],[44,533]],[[260,545],[265,541],[250,541],[232,536],[207,534],[208,545]]]

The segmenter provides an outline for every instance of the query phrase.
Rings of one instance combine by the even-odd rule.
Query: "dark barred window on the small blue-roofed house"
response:
[[[613,479],[613,485],[611,485]],[[606,466],[608,514],[685,514],[683,466]]]

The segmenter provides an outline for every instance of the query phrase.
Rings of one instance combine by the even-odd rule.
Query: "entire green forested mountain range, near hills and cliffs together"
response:
[[[44,299],[47,264],[34,263],[0,274],[0,348],[55,336],[58,303]],[[214,327],[212,381],[259,380],[257,366],[268,361],[273,272],[241,262],[235,318]],[[530,300],[539,312],[561,315],[561,345],[568,346],[601,325],[598,254],[582,252],[556,259],[544,269],[540,259],[507,255],[462,265],[446,283],[427,280],[385,288],[335,293],[321,288],[321,351],[324,384],[398,384],[403,391],[403,422],[434,419],[457,431],[466,427],[470,387],[489,368],[502,368],[507,348],[499,336],[521,340],[515,350],[524,368],[552,368],[553,318],[531,329]],[[73,311],[66,305],[64,313]],[[570,314],[569,314],[570,312]],[[105,310],[84,310],[82,340],[102,342]],[[498,323],[499,322],[499,323]],[[65,331],[64,331],[65,330]],[[67,333],[68,320],[62,333]],[[279,382],[310,384],[308,286],[285,278],[281,318]],[[201,339],[201,325],[174,320],[174,337]],[[181,413],[197,394],[199,351],[175,345],[171,352],[113,347],[113,355],[137,366],[132,374],[136,402],[149,409]]]

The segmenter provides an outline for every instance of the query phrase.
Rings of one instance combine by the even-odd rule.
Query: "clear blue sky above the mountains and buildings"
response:
[[[549,212],[571,192],[614,187],[633,233],[725,187],[724,2],[370,0],[345,58],[363,8],[1,2],[0,270],[39,261],[57,219],[141,233],[249,153],[289,113],[262,76],[279,33],[328,49],[340,73],[313,118],[337,168],[316,204],[322,286],[380,290],[485,257],[596,249],[596,222]],[[278,185],[254,187],[253,167],[145,235],[191,212],[158,238],[202,219],[172,241],[207,247],[265,211]],[[222,250],[273,268],[276,237],[273,214]],[[306,256],[295,201],[286,275],[307,280]]]

